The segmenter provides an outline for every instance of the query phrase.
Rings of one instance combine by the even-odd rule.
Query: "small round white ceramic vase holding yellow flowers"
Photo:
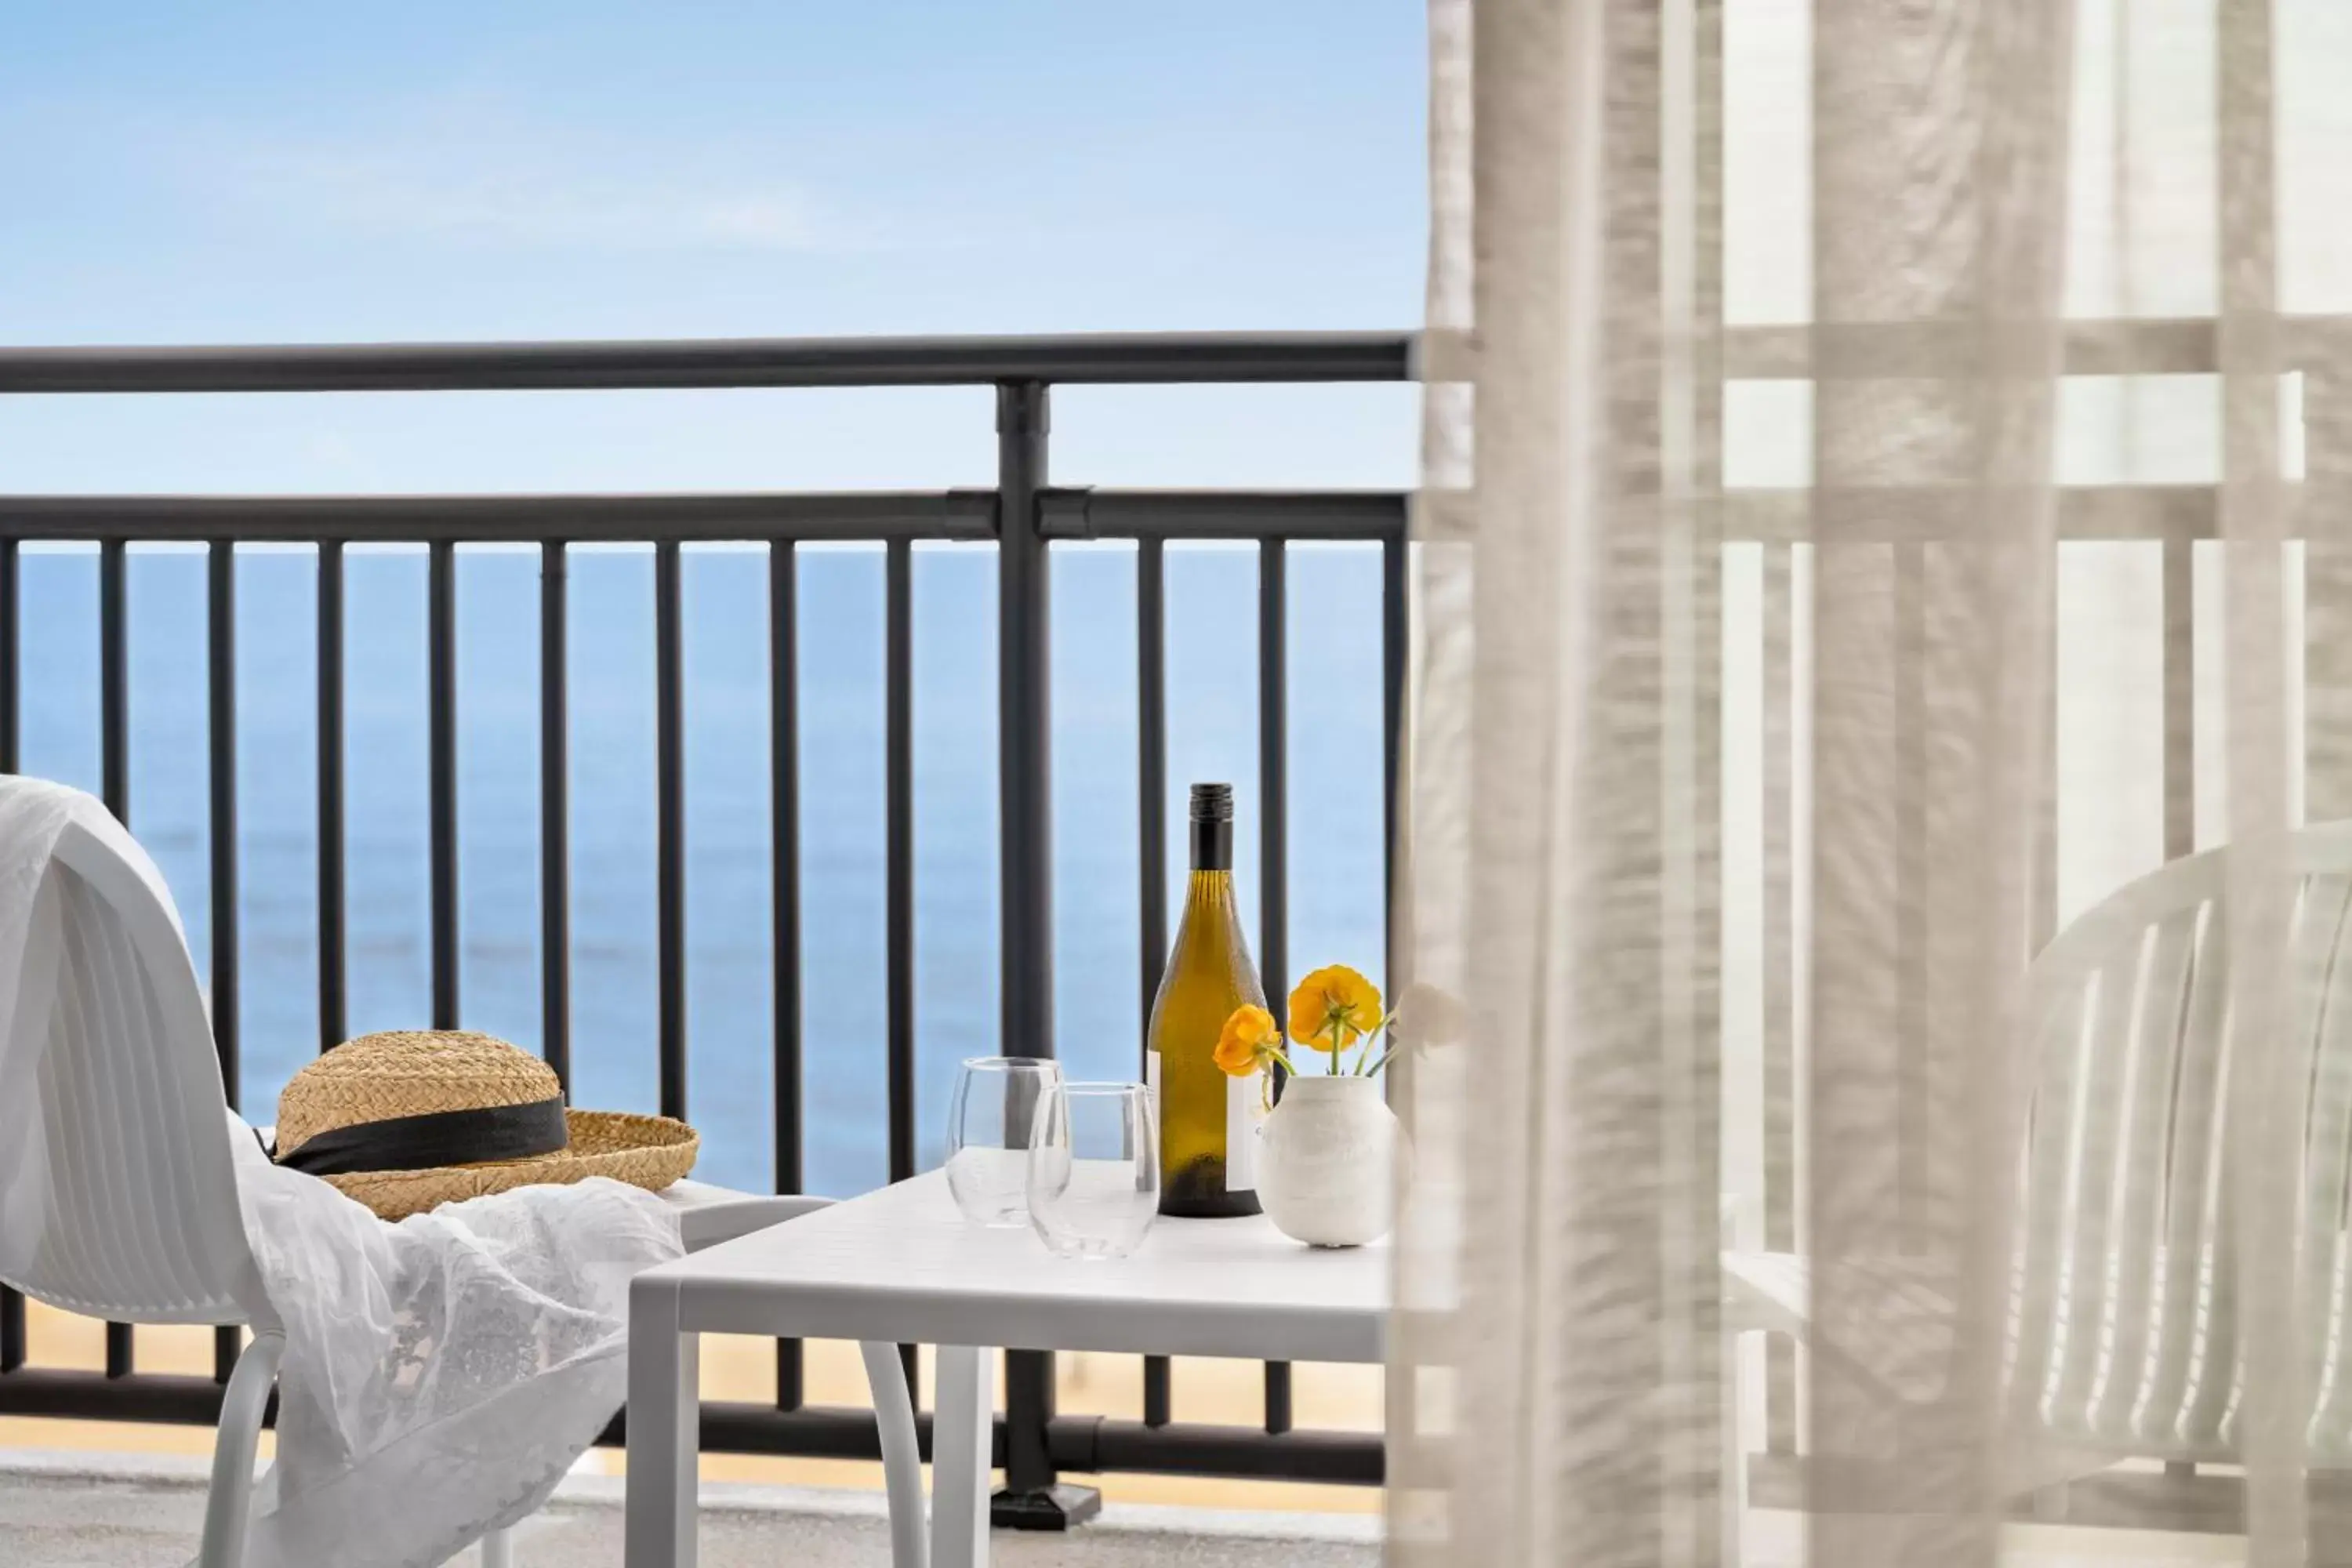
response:
[[[1258,1131],[1258,1204],[1308,1246],[1364,1246],[1388,1234],[1404,1128],[1381,1079],[1301,1074]]]

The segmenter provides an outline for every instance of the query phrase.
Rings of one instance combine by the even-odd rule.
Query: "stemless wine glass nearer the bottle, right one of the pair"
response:
[[[1124,1258],[1160,1215],[1160,1126],[1143,1084],[1061,1084],[1037,1112],[1030,1225],[1061,1258]]]

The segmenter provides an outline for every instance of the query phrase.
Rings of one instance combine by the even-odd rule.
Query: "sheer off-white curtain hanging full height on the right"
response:
[[[2352,1559],[2352,5],[1430,35],[1392,1561]]]

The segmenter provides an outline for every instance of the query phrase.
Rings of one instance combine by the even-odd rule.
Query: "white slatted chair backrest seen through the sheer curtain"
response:
[[[2237,1450],[2241,1340],[2232,1048],[2307,1086],[2303,1335],[2314,1462],[2352,1458],[2343,1340],[2352,1154],[2352,823],[2291,839],[2277,1041],[2230,1027],[2230,851],[2124,886],[2034,961],[2037,1079],[2013,1387],[2063,1441],[2180,1460]]]

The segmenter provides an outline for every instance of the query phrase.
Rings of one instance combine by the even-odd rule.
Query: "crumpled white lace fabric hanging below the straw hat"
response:
[[[539,1509],[628,1396],[628,1281],[677,1218],[595,1178],[388,1225],[238,1147],[287,1335],[247,1566],[426,1568]]]

